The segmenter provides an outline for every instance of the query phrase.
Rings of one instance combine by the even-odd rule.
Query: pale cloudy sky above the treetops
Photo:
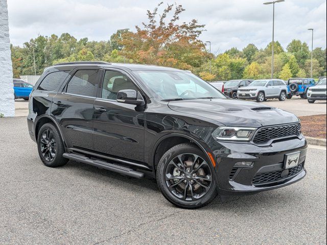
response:
[[[118,29],[141,26],[146,11],[160,2],[153,0],[7,0],[11,43],[22,43],[38,35],[69,33],[75,38],[109,40]],[[267,0],[266,0],[267,1]],[[231,47],[242,50],[248,43],[265,48],[272,39],[272,5],[265,0],[175,0],[164,5],[181,4],[185,11],[180,21],[197,19],[205,24],[202,41],[211,41],[214,54]],[[163,7],[161,7],[161,10]],[[160,11],[159,11],[160,13]],[[285,0],[275,4],[275,40],[283,47],[292,39],[314,48],[326,47],[326,1]]]

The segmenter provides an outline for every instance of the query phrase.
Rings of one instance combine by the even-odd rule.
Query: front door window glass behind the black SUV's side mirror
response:
[[[117,93],[123,89],[137,91],[133,82],[124,74],[118,71],[107,70],[103,79],[101,97],[103,99],[116,100]]]

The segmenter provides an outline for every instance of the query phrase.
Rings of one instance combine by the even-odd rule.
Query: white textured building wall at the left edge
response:
[[[0,114],[15,116],[7,0],[0,0]]]

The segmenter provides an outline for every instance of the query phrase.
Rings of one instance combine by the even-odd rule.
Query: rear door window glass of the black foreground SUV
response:
[[[67,93],[91,96],[96,94],[99,70],[78,70],[67,85]]]

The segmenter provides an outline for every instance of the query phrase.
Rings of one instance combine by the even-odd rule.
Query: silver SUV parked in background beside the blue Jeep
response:
[[[267,99],[274,98],[285,101],[287,86],[283,80],[279,79],[255,80],[249,86],[240,88],[237,96],[239,99],[250,99],[257,102],[264,102]]]

